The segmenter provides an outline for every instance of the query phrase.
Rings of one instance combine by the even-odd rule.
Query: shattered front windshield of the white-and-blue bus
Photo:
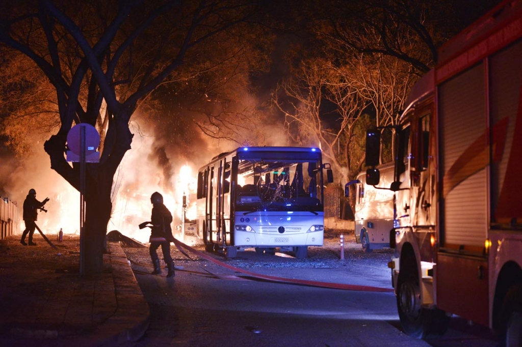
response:
[[[236,212],[322,212],[322,178],[316,158],[239,159]]]

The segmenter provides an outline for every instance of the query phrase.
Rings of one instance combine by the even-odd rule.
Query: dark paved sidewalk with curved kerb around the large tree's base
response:
[[[79,237],[40,234],[0,240],[0,345],[113,346],[143,336],[149,306],[119,242],[108,242],[103,273],[79,276]],[[26,240],[27,242],[27,240]]]

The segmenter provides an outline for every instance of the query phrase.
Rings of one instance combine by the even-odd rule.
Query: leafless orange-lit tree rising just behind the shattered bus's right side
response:
[[[347,82],[346,71],[328,61],[307,61],[293,76],[283,81],[275,94],[289,137],[295,143],[320,145],[341,181],[353,177],[350,141],[365,100]],[[359,158],[355,161],[360,162]]]

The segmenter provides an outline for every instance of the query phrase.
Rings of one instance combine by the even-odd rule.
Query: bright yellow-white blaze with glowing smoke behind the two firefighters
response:
[[[165,206],[173,216],[172,229],[174,236],[181,233],[183,214],[185,219],[196,218],[197,164],[170,163],[171,177],[164,177],[163,168],[153,160],[154,139],[140,137],[133,139],[132,149],[128,151],[114,176],[112,189],[113,209],[107,231],[118,230],[127,237],[140,242],[148,242],[150,229],[139,229],[141,222],[150,220],[152,205],[150,195],[160,192]],[[206,158],[202,158],[206,159]],[[11,200],[18,205],[19,229],[25,228],[22,220],[23,200],[29,189],[37,191],[37,199],[43,201],[49,197],[45,205],[47,213],[39,212],[37,225],[53,240],[60,229],[67,234],[79,234],[80,194],[60,175],[49,168],[49,157],[40,149],[35,158],[27,160],[23,171],[15,173],[18,179],[15,191],[18,196]],[[21,171],[21,170],[20,170]],[[89,189],[87,187],[87,189]],[[186,196],[187,207],[183,209],[183,195]],[[87,206],[88,208],[88,206]],[[37,232],[38,233],[38,232]]]

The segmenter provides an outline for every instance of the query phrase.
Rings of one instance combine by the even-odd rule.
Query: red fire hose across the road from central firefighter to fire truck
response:
[[[268,276],[268,275],[257,274],[256,272],[243,270],[243,269],[237,268],[235,266],[232,266],[232,265],[220,262],[220,261],[218,261],[218,259],[215,259],[215,258],[213,258],[213,257],[211,257],[211,256],[209,256],[209,255],[207,255],[207,254],[205,254],[203,252],[199,252],[199,251],[195,250],[193,247],[188,246],[188,245],[184,244],[183,242],[181,242],[181,241],[179,241],[177,239],[174,239],[174,245],[176,246],[176,248],[181,253],[183,253],[189,259],[192,259],[192,258],[187,254],[187,252],[185,252],[185,250],[189,251],[189,252],[192,252],[192,253],[196,254],[197,256],[199,256],[201,258],[204,258],[204,259],[208,260],[209,262],[212,262],[212,263],[217,264],[219,266],[222,266],[222,267],[234,270],[234,271],[238,271],[238,272],[241,272],[242,274],[245,274],[245,275],[248,275],[248,276],[251,276],[251,277],[254,277],[254,278],[258,278],[258,279],[263,279],[263,280],[266,280],[266,281],[278,282],[278,283],[289,283],[289,284],[300,284],[301,286],[309,286],[309,287],[321,287],[321,288],[342,289],[342,290],[352,290],[352,291],[365,291],[365,292],[393,292],[394,291],[393,288],[360,286],[358,284],[319,282],[319,281],[302,280],[302,279],[294,279],[294,278],[284,278],[284,277],[276,277],[276,276]],[[207,269],[205,269],[205,271],[207,271],[210,274],[212,274],[212,272],[210,272]],[[216,276],[216,277],[220,277],[220,276],[217,276],[215,274],[212,274],[212,275]]]

